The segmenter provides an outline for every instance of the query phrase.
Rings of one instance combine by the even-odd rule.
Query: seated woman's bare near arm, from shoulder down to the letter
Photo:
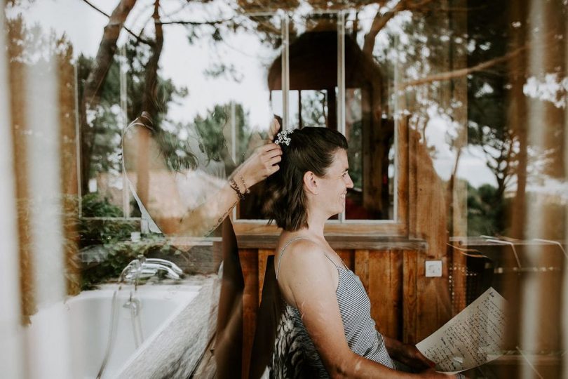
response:
[[[332,378],[447,378],[427,371],[420,374],[392,370],[349,349],[335,294],[337,270],[311,241],[298,241],[280,267],[278,284],[302,321]]]

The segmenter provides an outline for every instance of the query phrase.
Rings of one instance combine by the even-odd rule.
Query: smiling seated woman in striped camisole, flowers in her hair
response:
[[[297,375],[447,378],[433,369],[395,371],[391,357],[417,370],[433,362],[413,345],[375,330],[363,284],[325,241],[325,221],[344,211],[347,189],[353,187],[344,136],[327,128],[303,128],[280,132],[275,142],[282,147],[282,160],[280,170],[266,180],[271,194],[266,211],[283,229],[274,260],[286,303],[279,327],[292,325],[297,332],[305,361],[304,372]],[[291,366],[297,369],[294,359]],[[272,373],[279,375],[292,374]]]

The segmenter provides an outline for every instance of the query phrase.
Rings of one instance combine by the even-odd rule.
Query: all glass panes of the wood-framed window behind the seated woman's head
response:
[[[365,31],[354,30],[353,19],[348,18],[346,26],[339,29],[338,22],[337,12],[294,13],[290,18],[288,127],[341,128],[348,139],[355,186],[347,194],[346,212],[333,219],[393,220],[395,122],[392,109],[388,110],[388,102],[393,100],[386,95],[392,87],[393,69],[386,59],[379,61],[363,53],[357,35]],[[344,28],[345,47],[339,51],[338,35]],[[383,43],[381,48],[389,46]],[[283,98],[282,59],[281,55],[275,58],[268,72],[271,99],[278,102]],[[339,67],[345,71],[341,86],[337,82]],[[242,210],[238,213],[241,219],[265,218],[262,212]]]

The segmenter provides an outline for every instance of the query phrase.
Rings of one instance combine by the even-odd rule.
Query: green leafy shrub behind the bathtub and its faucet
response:
[[[97,194],[83,197],[83,213],[98,218],[119,218],[122,209],[111,204],[108,199]],[[161,236],[150,234],[138,242],[130,241],[130,233],[140,230],[138,222],[125,220],[88,220],[79,222],[79,246],[82,251],[96,246],[104,252],[99,262],[83,266],[81,272],[81,291],[93,289],[97,285],[118,281],[128,262],[138,255],[168,252],[170,246]]]

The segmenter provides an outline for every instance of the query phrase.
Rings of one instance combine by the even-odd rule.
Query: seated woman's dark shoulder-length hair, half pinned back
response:
[[[280,144],[280,169],[266,179],[264,212],[269,222],[294,232],[308,226],[304,173],[325,175],[338,149],[347,149],[342,133],[328,128],[306,127],[288,134],[290,144]],[[276,140],[276,137],[275,137]]]

